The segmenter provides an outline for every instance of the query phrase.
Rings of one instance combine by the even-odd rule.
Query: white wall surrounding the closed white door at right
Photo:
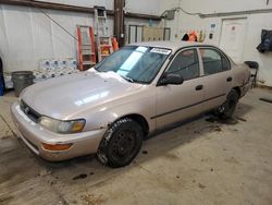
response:
[[[218,13],[234,12],[246,10],[272,9],[272,2],[267,5],[267,0],[168,0],[162,1],[161,8],[182,7],[185,11],[191,13]],[[188,31],[203,31],[208,36],[213,33],[213,39],[206,38],[205,43],[219,45],[221,37],[222,20],[246,17],[247,35],[245,36],[245,49],[243,60],[255,60],[260,64],[259,81],[264,85],[272,86],[272,52],[260,53],[256,47],[261,41],[261,29],[272,29],[272,13],[262,14],[244,14],[225,17],[207,17],[200,19],[198,15],[187,15],[182,11],[175,13],[175,20],[168,21],[166,25],[172,28],[172,40],[181,40],[184,33]],[[211,29],[211,24],[215,24],[215,28]]]

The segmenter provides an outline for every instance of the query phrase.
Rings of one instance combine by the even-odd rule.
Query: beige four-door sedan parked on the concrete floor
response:
[[[27,87],[11,110],[22,140],[42,158],[97,153],[122,167],[159,129],[210,110],[231,117],[249,79],[214,46],[141,43],[89,71]]]

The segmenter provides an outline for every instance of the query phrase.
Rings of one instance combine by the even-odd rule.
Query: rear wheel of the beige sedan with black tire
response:
[[[217,108],[215,116],[218,116],[220,119],[227,119],[233,116],[233,112],[236,108],[236,105],[238,102],[239,95],[235,89],[232,89],[227,96],[226,100],[222,106]]]

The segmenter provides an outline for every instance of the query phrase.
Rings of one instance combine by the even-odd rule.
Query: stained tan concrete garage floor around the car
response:
[[[272,204],[272,104],[252,89],[230,121],[198,118],[144,143],[122,169],[94,156],[50,164],[16,137],[0,98],[0,204]]]

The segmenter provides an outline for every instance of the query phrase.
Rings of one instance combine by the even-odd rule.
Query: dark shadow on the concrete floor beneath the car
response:
[[[13,149],[7,150],[5,153],[1,153],[0,150],[0,188],[3,182],[5,182],[5,185],[10,183],[16,184],[23,183],[32,178],[45,178],[48,185],[61,184],[66,186],[85,184],[91,188],[92,185],[101,184],[112,179],[114,176],[120,176],[129,169],[140,168],[140,164],[163,156],[187,143],[193,143],[194,140],[203,137],[206,133],[220,133],[223,132],[224,126],[235,126],[237,123],[246,123],[247,119],[245,119],[245,116],[247,116],[251,109],[252,107],[250,105],[239,104],[234,113],[234,118],[231,119],[232,123],[230,123],[230,121],[220,121],[210,113],[202,114],[186,122],[176,123],[174,126],[148,137],[132,165],[120,169],[111,169],[102,166],[96,160],[95,155],[61,162],[49,162],[32,154],[21,140],[16,137],[5,140],[17,141],[18,143],[15,143]],[[16,178],[17,174],[23,174],[23,179],[22,177]]]

